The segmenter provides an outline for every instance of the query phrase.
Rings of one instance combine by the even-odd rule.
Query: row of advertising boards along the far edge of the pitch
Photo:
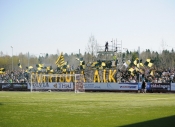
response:
[[[140,91],[141,83],[83,83],[85,91]],[[33,83],[33,90],[74,91],[73,82]],[[1,91],[30,91],[30,83],[0,83]],[[148,92],[175,92],[175,83],[147,83]]]

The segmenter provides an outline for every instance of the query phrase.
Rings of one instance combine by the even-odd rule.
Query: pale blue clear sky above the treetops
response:
[[[84,54],[91,36],[130,51],[175,49],[175,0],[0,0],[4,54]]]

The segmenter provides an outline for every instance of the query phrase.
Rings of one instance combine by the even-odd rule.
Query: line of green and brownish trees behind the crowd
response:
[[[96,60],[103,59],[103,56],[98,56],[96,50],[91,50],[91,52],[85,52],[84,54],[78,53],[78,54],[67,54],[64,53],[64,60],[65,62],[68,62],[70,66],[73,66],[74,68],[79,66],[79,61],[76,60],[76,58],[81,58],[85,61],[85,63],[92,63]],[[44,64],[44,66],[52,66],[52,68],[56,68],[55,61],[57,60],[59,54],[45,54],[44,56],[35,56],[31,55],[28,56],[28,54],[20,53],[19,55],[5,55],[3,52],[0,53],[0,68],[5,68],[6,70],[12,70],[12,64],[13,64],[13,70],[19,70],[18,64],[20,63],[22,66],[22,69],[26,69],[28,66],[36,67],[36,64]],[[100,58],[99,58],[100,57]],[[112,56],[107,56],[111,57]],[[104,56],[105,58],[105,56]],[[123,62],[126,60],[134,61],[136,58],[140,58],[140,62],[145,62],[146,59],[152,59],[154,61],[154,67],[160,68],[160,69],[168,69],[168,68],[174,68],[175,67],[175,52],[172,49],[169,50],[163,50],[161,53],[150,51],[149,49],[146,49],[145,51],[142,51],[140,54],[137,51],[126,51],[125,53],[122,53]],[[132,64],[131,64],[132,66]]]

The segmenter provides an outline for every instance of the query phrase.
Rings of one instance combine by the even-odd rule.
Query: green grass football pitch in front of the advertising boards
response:
[[[0,127],[175,127],[175,94],[1,91]]]

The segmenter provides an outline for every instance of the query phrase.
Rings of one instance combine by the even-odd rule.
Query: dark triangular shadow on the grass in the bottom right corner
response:
[[[175,127],[175,115],[120,127]]]

